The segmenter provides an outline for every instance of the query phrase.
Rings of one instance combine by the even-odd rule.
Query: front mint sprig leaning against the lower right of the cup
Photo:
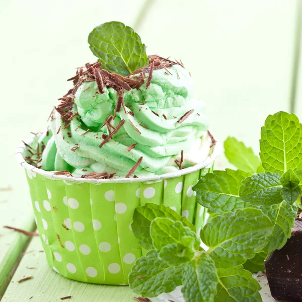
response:
[[[232,277],[233,283],[227,283],[223,278],[225,274],[234,275],[234,266],[253,258],[255,253],[267,245],[273,229],[270,219],[261,210],[254,208],[238,209],[216,216],[206,224],[201,233],[203,242],[209,246],[209,250],[204,251],[199,247],[200,240],[196,237],[195,230],[185,225],[187,220],[179,215],[177,220],[167,218],[171,215],[170,210],[163,205],[148,203],[136,208],[132,223],[132,229],[133,226],[136,228],[134,235],[140,240],[142,236],[146,238],[148,228],[154,250],[135,262],[129,274],[130,288],[142,297],[154,297],[162,292],[170,292],[182,284],[186,302],[224,302],[219,296],[220,287],[223,287],[225,293],[222,296],[253,296],[255,301],[261,301],[257,298],[258,287],[254,286],[255,290],[245,292],[233,288],[237,283],[238,286],[243,284],[240,274],[249,276],[244,285],[250,286],[247,285],[252,282],[249,280],[252,278],[249,272],[242,268],[238,270],[238,277]],[[155,213],[166,218],[154,217]],[[150,223],[145,216],[154,219]],[[139,229],[138,225],[144,225],[144,228]],[[218,278],[219,270],[221,280]],[[253,288],[252,285],[250,287]]]

